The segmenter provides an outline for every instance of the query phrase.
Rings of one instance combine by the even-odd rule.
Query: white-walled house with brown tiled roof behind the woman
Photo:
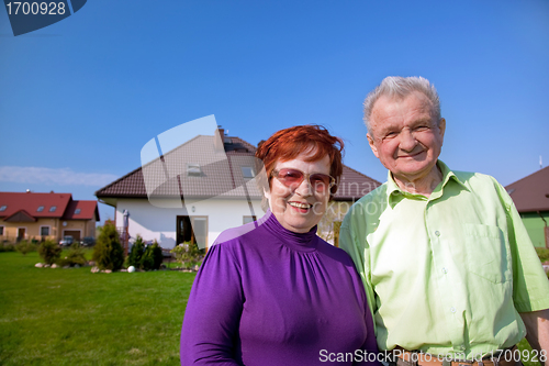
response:
[[[156,240],[164,248],[193,241],[208,248],[222,231],[264,214],[255,152],[254,145],[219,129],[213,136],[195,136],[126,174],[96,196],[115,208],[119,229],[124,226],[124,211],[128,213],[131,237]],[[330,239],[332,221],[343,220],[354,201],[378,186],[379,181],[344,167],[321,235]]]

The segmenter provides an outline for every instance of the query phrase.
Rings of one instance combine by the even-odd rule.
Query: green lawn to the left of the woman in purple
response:
[[[37,262],[36,252],[0,253],[1,365],[179,365],[194,274],[91,274]]]

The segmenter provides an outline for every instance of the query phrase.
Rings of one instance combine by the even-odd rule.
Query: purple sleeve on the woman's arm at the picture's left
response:
[[[213,245],[197,274],[181,330],[181,365],[239,365],[240,271],[229,247]]]

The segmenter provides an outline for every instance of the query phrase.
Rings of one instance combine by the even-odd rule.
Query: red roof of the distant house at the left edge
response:
[[[75,213],[80,209],[79,213]],[[99,221],[97,201],[75,201],[71,193],[0,192],[0,218],[57,218]],[[13,220],[13,218],[11,218]]]

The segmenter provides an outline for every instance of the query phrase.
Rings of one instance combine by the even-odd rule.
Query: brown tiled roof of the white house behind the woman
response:
[[[222,154],[213,149],[213,138],[199,135],[101,188],[96,196],[100,199],[147,198],[148,186],[153,191],[152,196],[158,198],[261,198],[255,180],[244,178],[242,171],[242,167],[255,170],[256,147],[239,137],[224,136],[225,154]],[[200,176],[188,174],[187,167],[191,163],[200,165]],[[356,200],[380,185],[379,181],[344,166],[344,176],[335,199]]]

